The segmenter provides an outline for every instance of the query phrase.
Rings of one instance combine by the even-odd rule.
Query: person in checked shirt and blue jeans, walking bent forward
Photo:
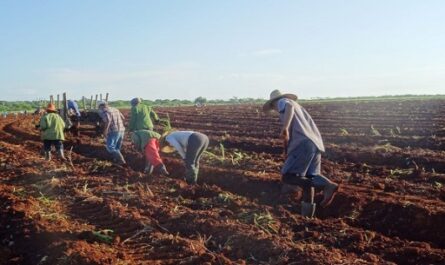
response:
[[[126,165],[124,156],[121,153],[125,134],[124,115],[118,109],[108,106],[107,102],[100,101],[99,116],[104,123],[103,135],[107,151],[111,153],[113,160],[118,164]]]

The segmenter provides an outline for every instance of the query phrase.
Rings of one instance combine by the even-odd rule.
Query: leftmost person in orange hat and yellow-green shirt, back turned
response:
[[[65,140],[65,135],[63,133],[63,130],[65,129],[65,122],[57,113],[56,106],[54,104],[48,104],[46,114],[40,118],[39,128],[42,132],[45,159],[47,161],[51,160],[51,146],[54,145],[59,157],[62,160],[65,160],[62,142]]]

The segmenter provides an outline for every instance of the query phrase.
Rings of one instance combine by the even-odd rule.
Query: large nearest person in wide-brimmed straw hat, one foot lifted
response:
[[[321,175],[321,153],[325,151],[323,140],[309,113],[295,101],[297,98],[296,95],[274,90],[263,110],[274,109],[280,114],[286,157],[281,169],[282,180],[303,189],[301,214],[313,217],[314,188],[323,189],[320,205],[326,207],[337,193],[338,185]]]

